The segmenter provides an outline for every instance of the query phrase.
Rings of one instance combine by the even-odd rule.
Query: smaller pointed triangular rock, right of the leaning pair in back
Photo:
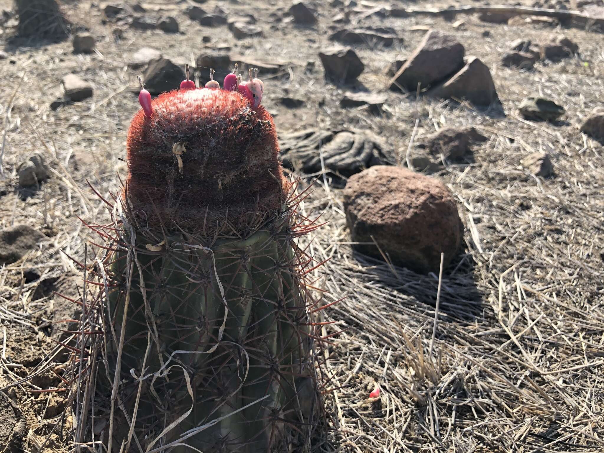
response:
[[[490,70],[477,57],[468,57],[466,66],[430,94],[442,99],[467,100],[477,106],[499,101]]]

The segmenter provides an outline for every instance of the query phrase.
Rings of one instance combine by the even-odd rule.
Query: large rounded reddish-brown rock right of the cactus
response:
[[[463,224],[451,192],[436,178],[395,166],[377,165],[353,175],[343,191],[353,247],[411,271],[439,274],[463,240]],[[379,248],[374,245],[377,243]]]

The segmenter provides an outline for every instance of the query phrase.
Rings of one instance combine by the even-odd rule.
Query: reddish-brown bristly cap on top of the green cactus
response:
[[[262,106],[254,112],[238,92],[202,88],[161,94],[152,108],[151,118],[135,115],[126,142],[123,196],[141,226],[243,233],[281,210],[291,187]],[[186,150],[182,173],[176,143]]]

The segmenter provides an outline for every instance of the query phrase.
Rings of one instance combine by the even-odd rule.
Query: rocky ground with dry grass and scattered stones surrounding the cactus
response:
[[[538,10],[66,0],[71,35],[54,42],[16,36],[0,0],[0,452],[71,439],[57,347],[80,310],[70,257],[98,251],[79,217],[108,218],[87,183],[107,197],[126,172],[136,77],[177,88],[185,63],[198,83],[259,68],[284,164],[319,176],[303,205],[329,220],[311,246],[331,258],[318,284],[345,300],[324,315],[318,450],[600,451],[604,5],[515,5]],[[435,336],[438,266],[351,246],[342,188],[373,165],[438,178],[457,205]]]

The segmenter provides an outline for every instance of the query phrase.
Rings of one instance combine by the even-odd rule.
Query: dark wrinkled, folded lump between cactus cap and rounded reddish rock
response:
[[[280,137],[283,165],[304,173],[325,169],[350,176],[372,165],[396,163],[393,147],[368,130],[306,129]]]

